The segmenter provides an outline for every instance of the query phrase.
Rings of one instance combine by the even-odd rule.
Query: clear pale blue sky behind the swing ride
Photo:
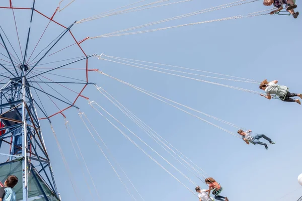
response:
[[[30,7],[31,2],[24,1],[23,3],[16,3],[16,5]],[[134,2],[76,0],[65,10],[57,13],[54,19],[64,26],[69,26],[75,20],[91,17]],[[147,4],[152,1],[145,2]],[[167,3],[170,2],[175,1],[168,1]],[[98,36],[231,2],[226,0],[219,3],[193,0],[173,6],[75,24],[71,30],[75,38],[82,40],[88,36]],[[51,16],[57,7],[57,3],[56,1],[43,3],[36,1],[36,9],[47,16]],[[1,4],[8,5],[8,3]],[[262,2],[258,1],[155,25],[147,29],[237,16],[265,9],[269,8],[264,7]],[[28,24],[21,22],[24,19],[29,19],[30,13],[28,11],[15,11],[15,14],[19,34],[23,37],[21,37],[21,41],[24,42]],[[0,17],[7,19],[2,21],[1,26],[8,29],[6,33],[11,35],[13,46],[17,49],[19,43],[16,40],[14,19],[11,11],[1,12]],[[39,39],[47,23],[47,20],[34,15],[31,48],[35,46],[35,41]],[[291,92],[299,93],[302,92],[302,86],[299,82],[301,73],[299,47],[302,45],[299,37],[302,33],[300,24],[301,18],[293,19],[290,16],[266,15],[146,34],[88,40],[82,43],[82,47],[87,54],[104,53],[110,56],[177,65],[260,81],[265,78],[268,80],[279,80],[279,83],[288,86]],[[50,26],[45,32],[45,37],[41,40],[41,48],[44,48],[47,42],[53,40],[53,36],[57,36],[63,31],[58,26]],[[63,38],[58,44],[57,50],[70,45],[71,42],[70,37]],[[79,49],[72,47],[61,51],[54,60],[68,59],[79,55],[81,56]],[[48,58],[49,61],[51,61],[50,58]],[[83,65],[85,63],[81,63],[81,66]],[[79,67],[77,65],[74,66]],[[51,64],[47,67],[55,67],[55,65]],[[301,106],[295,103],[282,103],[280,100],[267,100],[258,94],[137,69],[97,60],[96,58],[90,59],[89,68],[97,68],[113,77],[165,96],[178,103],[251,129],[257,133],[265,133],[271,137],[276,144],[269,145],[268,150],[265,150],[260,145],[248,146],[241,139],[165,105],[153,97],[99,73],[90,72],[89,79],[91,82],[102,86],[143,122],[194,161],[208,175],[220,182],[224,188],[221,194],[228,196],[230,200],[296,200],[301,196],[302,189],[297,183],[297,176],[302,173],[300,168],[302,162],[299,160],[301,153],[300,142],[302,140],[299,128]],[[79,79],[85,77],[83,71],[80,70],[72,72],[71,70],[60,70],[57,73],[66,76],[72,73],[73,77]],[[259,91],[256,84],[201,79]],[[73,85],[70,87],[81,88]],[[68,99],[72,100],[74,98],[74,94],[70,93],[69,96],[69,92],[65,93],[66,90],[61,86],[57,86],[57,89],[61,90]],[[91,100],[95,100],[133,133],[145,140],[148,145],[166,157],[184,174],[188,175],[194,182],[206,188],[198,178],[177,163],[175,159],[169,156],[133,122],[127,119],[124,114],[117,110],[93,85],[86,88],[84,95]],[[49,113],[57,111],[46,96],[42,97],[42,102]],[[92,109],[86,99],[80,98],[76,105],[80,107],[81,112],[87,114],[87,117],[92,121],[112,155],[127,173],[144,200],[197,200],[197,197],[167,174],[154,161],[150,160]],[[113,200],[122,198],[123,200],[133,200],[127,194],[99,147],[87,132],[86,127],[78,116],[78,110],[70,109],[64,114],[75,131],[75,136],[93,175],[101,199]],[[201,115],[200,117],[205,118]],[[79,200],[92,200],[66,133],[64,119],[62,116],[55,116],[51,120],[70,167]],[[110,120],[120,127],[117,122]],[[207,120],[234,133],[237,131],[236,128],[219,124],[208,118]],[[75,200],[76,195],[69,182],[67,171],[64,168],[49,123],[41,121],[41,125],[61,197],[63,200]],[[138,142],[131,133],[122,127],[120,128],[145,149],[147,153],[159,160],[164,167],[194,190],[195,186],[192,183],[150,149]],[[98,142],[104,148],[99,139]],[[77,153],[79,154],[79,152]],[[109,159],[111,160],[112,158],[109,157]],[[118,166],[114,163],[113,165],[125,179]],[[94,190],[83,162],[81,162],[81,166],[85,170],[85,176],[89,181],[90,188]],[[129,183],[127,183],[127,186],[136,199],[141,200]],[[95,191],[92,194],[94,199],[98,200]]]

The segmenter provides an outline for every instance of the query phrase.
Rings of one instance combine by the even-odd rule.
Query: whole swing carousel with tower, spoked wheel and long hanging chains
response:
[[[102,193],[104,193],[103,187],[96,184],[95,177],[97,177],[97,173],[92,170],[94,168],[89,165],[90,162],[85,156],[83,147],[81,147],[84,138],[91,139],[91,141],[97,145],[96,148],[92,149],[100,151],[101,155],[104,156],[105,161],[108,162],[116,178],[129,195],[129,200],[147,200],[144,198],[145,196],[142,195],[141,189],[139,190],[137,185],[134,185],[134,183],[137,184],[142,181],[133,182],[130,180],[130,176],[126,174],[126,171],[116,159],[116,152],[113,151],[112,153],[105,142],[106,140],[104,140],[104,137],[100,134],[99,127],[103,127],[103,124],[107,124],[113,128],[115,132],[121,134],[124,137],[123,140],[126,139],[132,147],[135,147],[135,151],[132,150],[133,155],[137,150],[141,151],[141,156],[139,157],[143,156],[150,159],[150,161],[159,168],[159,170],[157,169],[156,171],[166,172],[174,181],[182,186],[182,188],[192,193],[192,198],[196,199],[196,197],[198,197],[198,193],[196,194],[194,187],[199,186],[200,183],[203,184],[203,188],[207,189],[209,184],[205,182],[205,179],[209,178],[210,174],[212,175],[212,172],[207,173],[211,171],[211,169],[205,172],[204,169],[200,168],[200,165],[197,165],[196,162],[189,159],[190,157],[185,154],[186,151],[180,151],[181,149],[176,148],[170,140],[167,140],[167,136],[163,137],[160,135],[142,121],[142,118],[139,118],[137,114],[135,115],[131,112],[125,104],[122,104],[123,99],[118,99],[116,95],[113,95],[111,92],[109,93],[109,90],[105,90],[104,85],[106,86],[106,84],[99,80],[111,81],[115,83],[115,86],[119,84],[123,87],[127,87],[127,89],[124,89],[127,91],[125,93],[129,93],[129,90],[132,90],[139,94],[137,98],[143,96],[143,101],[146,101],[146,98],[152,99],[152,101],[156,102],[154,108],[161,105],[161,107],[167,107],[171,111],[177,111],[178,115],[181,114],[181,116],[186,116],[186,118],[192,118],[192,121],[201,120],[202,123],[206,123],[210,128],[215,129],[213,132],[219,131],[226,133],[229,137],[232,137],[232,139],[237,140],[238,143],[242,143],[242,137],[238,135],[236,131],[247,131],[248,129],[241,125],[231,123],[231,121],[223,120],[226,118],[224,115],[222,115],[224,118],[220,118],[219,113],[215,113],[214,116],[208,114],[208,112],[202,112],[200,109],[194,109],[194,107],[189,106],[187,102],[176,101],[175,99],[177,98],[171,98],[169,93],[163,91],[155,92],[152,89],[146,90],[144,88],[147,85],[142,84],[143,86],[138,86],[137,82],[134,81],[135,79],[131,82],[131,78],[124,79],[119,77],[123,77],[123,73],[131,77],[132,75],[127,73],[128,70],[131,72],[143,72],[143,75],[153,73],[158,80],[162,80],[162,77],[169,76],[175,80],[210,85],[236,93],[258,95],[257,97],[264,95],[263,92],[257,90],[260,81],[231,75],[233,73],[217,73],[203,70],[202,68],[169,65],[164,62],[151,61],[152,59],[144,61],[144,59],[133,57],[126,58],[127,56],[107,55],[106,51],[104,51],[104,53],[95,53],[91,52],[89,44],[97,43],[95,41],[102,39],[111,40],[111,38],[132,37],[132,35],[140,36],[154,32],[156,32],[154,34],[164,33],[168,30],[173,31],[185,27],[190,29],[189,27],[201,26],[202,24],[209,26],[221,21],[229,22],[250,18],[264,18],[269,15],[273,9],[259,9],[257,7],[258,10],[253,10],[255,8],[250,5],[255,2],[259,3],[259,0],[241,0],[218,6],[211,4],[214,6],[208,9],[193,11],[175,17],[167,17],[154,22],[142,23],[141,25],[132,26],[133,23],[129,23],[130,26],[127,28],[123,25],[122,27],[124,28],[119,31],[112,31],[102,35],[84,36],[83,32],[81,32],[81,34],[77,33],[79,32],[78,27],[82,26],[82,24],[96,23],[100,20],[105,20],[105,18],[131,16],[139,12],[156,11],[157,9],[162,10],[170,7],[181,8],[182,6],[189,6],[192,2],[194,1],[160,0],[148,2],[142,0],[128,5],[121,5],[121,7],[89,18],[86,16],[86,18],[82,20],[73,19],[72,23],[69,24],[67,24],[66,21],[70,20],[70,17],[68,16],[62,20],[64,17],[62,17],[61,14],[70,12],[68,9],[77,3],[75,0],[60,1],[58,7],[54,8],[52,12],[50,12],[51,9],[47,6],[43,7],[43,3],[35,0],[23,2],[7,0],[0,3],[2,17],[7,16],[7,18],[10,18],[8,23],[0,23],[1,186],[6,186],[5,181],[9,175],[15,175],[19,179],[17,185],[13,187],[16,193],[16,200],[75,199],[74,197],[70,198],[68,194],[64,194],[64,189],[57,187],[57,177],[55,177],[57,170],[50,160],[50,157],[55,157],[52,153],[53,147],[46,149],[46,145],[49,143],[48,141],[50,141],[48,136],[51,134],[54,137],[57,151],[66,169],[64,171],[68,173],[66,176],[70,179],[77,200],[101,200],[103,199]],[[250,9],[249,13],[244,15],[240,14],[217,19],[205,18],[204,21],[200,22],[187,23],[187,21],[185,21],[187,18],[196,17],[201,14],[245,6],[250,6],[247,7]],[[276,14],[285,15],[283,12]],[[183,23],[177,24],[175,23],[177,21]],[[167,27],[149,28],[152,26],[161,26],[167,22]],[[89,32],[87,31],[87,33]],[[127,68],[127,70],[123,69],[115,74],[115,69],[108,69],[104,66],[118,66]],[[145,79],[149,80],[148,77]],[[140,78],[140,80],[143,82],[144,78]],[[226,84],[225,82],[235,84]],[[110,86],[107,87],[110,88]],[[92,92],[92,90],[94,91]],[[286,92],[288,90],[289,88],[287,87]],[[95,99],[96,94],[102,97],[102,101]],[[91,96],[94,99],[92,99]],[[137,98],[131,99],[131,102]],[[284,100],[285,96],[282,97],[282,99],[276,94],[273,98]],[[119,120],[120,116],[117,118],[117,116],[106,109],[104,106],[105,101],[110,103],[114,110],[122,114],[123,117],[126,117],[128,124],[131,123],[135,125],[136,128],[127,123],[123,123],[123,121]],[[83,104],[86,104],[86,106],[93,111],[93,117],[86,113],[88,109],[86,109]],[[137,105],[137,107],[139,106]],[[153,106],[149,105],[149,107],[152,108]],[[79,116],[78,121],[81,123],[81,127],[72,129],[72,118],[69,118],[71,117],[70,113]],[[89,116],[91,118],[89,118]],[[64,130],[61,129],[62,127],[56,129],[57,118],[63,118]],[[41,126],[42,122],[43,126]],[[79,126],[80,123],[75,123],[75,125]],[[45,124],[49,124],[48,132],[46,132],[47,137],[45,137],[45,132],[43,132],[44,136],[42,134],[42,129],[45,130]],[[82,133],[81,137],[83,137],[83,134],[85,134],[85,137],[79,140],[79,136],[75,133],[80,130]],[[85,187],[87,187],[87,194],[89,194],[85,196],[86,198],[78,195],[79,189],[76,187],[77,182],[74,182],[72,171],[68,164],[70,162],[68,162],[69,157],[65,156],[66,149],[64,148],[67,142],[64,141],[62,146],[62,142],[60,142],[61,135],[58,135],[58,133],[66,133],[66,136],[68,136],[66,139],[68,139],[68,143],[70,143],[71,147],[68,149],[68,152],[74,152],[74,161],[78,162],[77,165],[73,164],[72,166],[77,166],[77,171],[81,171],[77,174],[83,175],[84,177],[85,182],[83,183],[86,183]],[[138,133],[143,133],[145,136],[142,137]],[[146,137],[148,139],[146,139]],[[255,145],[253,141],[250,141],[250,143]],[[213,146],[216,147],[217,145]],[[182,149],[184,149],[184,147]],[[129,160],[130,158],[131,157],[129,157]],[[214,158],[214,161],[219,160],[219,156],[214,156]],[[55,165],[57,166],[57,164]],[[211,164],[205,162],[203,166],[211,166]],[[152,168],[147,170],[151,172]],[[219,171],[223,170],[221,169]],[[76,177],[79,177],[79,175]],[[106,179],[110,180],[110,178]],[[162,182],[164,182],[164,180]],[[220,186],[220,183],[217,183]],[[214,184],[214,182],[211,184]],[[152,187],[147,185],[146,188],[150,189]],[[230,187],[228,186],[228,188]],[[219,197],[221,193],[228,193],[225,189],[222,182],[220,188],[216,186],[210,188],[210,190],[213,190],[212,195],[215,196],[215,198]],[[63,198],[61,198],[61,196]],[[87,196],[89,196],[89,198],[87,198]],[[232,200],[236,200],[236,198]],[[301,200],[301,198],[298,200]]]

